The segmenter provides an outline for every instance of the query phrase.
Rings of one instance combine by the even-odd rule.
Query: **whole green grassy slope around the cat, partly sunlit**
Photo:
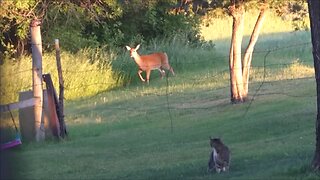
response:
[[[257,49],[306,41],[309,41],[308,32],[265,35]],[[265,77],[259,68],[265,54],[255,54],[250,86],[250,96],[256,94],[255,99],[251,105],[231,105],[228,74],[219,74],[227,69],[227,51],[221,48],[225,44],[217,42],[214,54],[218,55],[213,59],[210,55],[198,58],[199,51],[190,49],[181,50],[191,51],[185,57],[175,56],[175,47],[167,48],[173,56],[171,61],[177,62],[173,63],[177,76],[169,78],[170,86],[154,74],[149,86],[129,86],[67,102],[68,140],[25,143],[14,151],[18,160],[13,165],[16,176],[29,179],[318,178],[309,168],[315,139],[315,81],[313,78],[285,80],[313,75],[310,46],[271,52],[266,64],[276,66],[267,66]],[[183,69],[177,67],[181,59],[196,63]],[[296,63],[290,65],[292,62]],[[264,78],[268,81],[257,91]],[[221,136],[232,151],[229,173],[206,172],[211,135]]]

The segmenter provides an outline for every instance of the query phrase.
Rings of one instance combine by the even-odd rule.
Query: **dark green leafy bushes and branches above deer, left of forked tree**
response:
[[[176,3],[175,0],[3,0],[0,32],[4,36],[0,37],[0,49],[8,50],[6,45],[10,42],[17,50],[18,44],[27,39],[33,18],[42,20],[44,44],[63,38],[66,42],[63,47],[72,52],[106,45],[118,48],[177,34],[196,39],[197,17],[169,13]]]

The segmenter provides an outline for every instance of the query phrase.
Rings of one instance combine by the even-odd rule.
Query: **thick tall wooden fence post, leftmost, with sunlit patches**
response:
[[[30,24],[33,78],[32,90],[34,98],[39,99],[39,102],[34,105],[36,141],[41,141],[45,138],[44,122],[42,121],[42,42],[40,24],[41,22],[38,19],[32,20]]]

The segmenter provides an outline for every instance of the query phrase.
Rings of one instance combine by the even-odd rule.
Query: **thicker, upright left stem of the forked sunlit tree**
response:
[[[231,6],[230,14],[233,17],[232,38],[229,56],[231,102],[241,103],[243,99],[243,79],[241,63],[241,44],[244,26],[244,7],[243,5]]]

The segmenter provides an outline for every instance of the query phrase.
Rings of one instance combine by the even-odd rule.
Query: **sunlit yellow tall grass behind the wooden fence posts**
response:
[[[62,71],[65,98],[76,99],[92,96],[123,83],[123,79],[110,65],[112,56],[94,57],[96,52],[82,50],[77,54],[62,52]],[[103,61],[104,63],[101,63]],[[43,74],[50,73],[58,90],[55,53],[45,53],[42,57]],[[32,58],[22,57],[16,61],[5,61],[0,66],[1,103],[18,101],[21,91],[32,89]],[[43,88],[45,84],[43,83]]]

